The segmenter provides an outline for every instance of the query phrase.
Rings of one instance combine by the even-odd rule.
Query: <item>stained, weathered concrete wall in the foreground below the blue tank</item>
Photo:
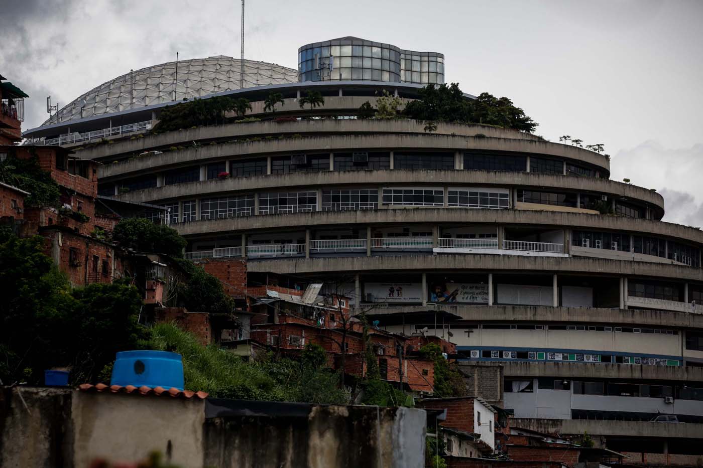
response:
[[[2,387],[0,466],[134,463],[158,450],[181,467],[412,467],[425,411]]]

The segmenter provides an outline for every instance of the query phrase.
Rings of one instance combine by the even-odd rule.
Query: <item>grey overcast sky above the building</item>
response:
[[[1,0],[0,73],[24,129],[133,68],[239,56],[240,2]],[[507,96],[537,134],[604,143],[612,178],[656,188],[666,221],[703,226],[703,1],[250,0],[245,58],[297,67],[342,36],[444,53],[446,81]]]

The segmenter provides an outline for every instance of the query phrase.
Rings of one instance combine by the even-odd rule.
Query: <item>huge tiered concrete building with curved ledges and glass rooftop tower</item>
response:
[[[598,152],[494,126],[356,118],[384,90],[407,101],[444,82],[444,56],[432,53],[434,79],[420,60],[416,80],[408,51],[336,41],[299,49],[298,82],[224,92],[249,99],[257,122],[150,134],[168,103],[145,103],[68,110],[25,138],[102,162],[102,196],[167,207],[189,259],[340,282],[387,330],[449,337],[466,372],[497,376],[483,396],[522,427],[690,455],[685,441],[703,437],[701,230],[661,221],[662,196],[610,180]],[[375,47],[387,65],[373,66]],[[308,90],[325,103],[301,108]],[[283,104],[265,112],[273,92]],[[689,424],[667,435],[648,422],[660,413]]]

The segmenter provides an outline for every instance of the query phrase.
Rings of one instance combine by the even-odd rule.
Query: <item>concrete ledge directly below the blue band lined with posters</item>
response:
[[[490,365],[502,366],[505,377],[568,377],[569,379],[647,379],[703,382],[703,368],[685,366],[522,362],[490,363]]]

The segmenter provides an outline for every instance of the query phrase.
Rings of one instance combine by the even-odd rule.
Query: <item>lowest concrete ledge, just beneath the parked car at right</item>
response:
[[[703,424],[515,418],[510,421],[510,426],[562,436],[583,435],[583,432],[588,432],[591,436],[703,438]]]

